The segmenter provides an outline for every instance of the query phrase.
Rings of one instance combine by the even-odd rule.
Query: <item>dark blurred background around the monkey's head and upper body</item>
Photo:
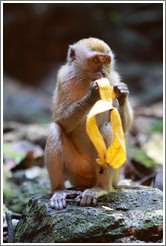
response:
[[[163,96],[161,3],[4,3],[4,121],[49,122],[68,45],[98,37],[116,54],[134,107]]]

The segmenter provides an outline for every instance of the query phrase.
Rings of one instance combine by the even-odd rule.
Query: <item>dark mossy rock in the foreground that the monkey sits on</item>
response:
[[[160,242],[162,197],[158,189],[119,186],[100,198],[97,207],[83,208],[70,200],[66,209],[55,210],[49,205],[50,194],[35,196],[15,229],[15,242]]]

